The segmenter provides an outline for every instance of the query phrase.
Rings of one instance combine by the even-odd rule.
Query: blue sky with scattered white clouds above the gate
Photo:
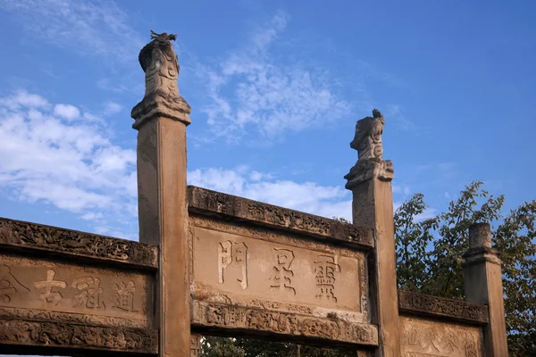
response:
[[[349,218],[356,120],[395,205],[535,198],[536,3],[0,0],[0,216],[137,239],[138,52],[178,34],[188,182]]]

